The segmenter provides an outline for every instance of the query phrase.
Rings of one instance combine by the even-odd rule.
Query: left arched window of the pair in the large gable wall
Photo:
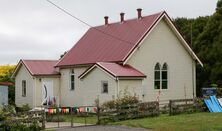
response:
[[[160,64],[157,63],[154,68],[154,89],[160,89]]]

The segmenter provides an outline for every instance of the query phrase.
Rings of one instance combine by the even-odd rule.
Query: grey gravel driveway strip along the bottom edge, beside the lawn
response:
[[[55,131],[149,131],[143,128],[133,128],[127,126],[86,126],[75,128],[57,128]]]

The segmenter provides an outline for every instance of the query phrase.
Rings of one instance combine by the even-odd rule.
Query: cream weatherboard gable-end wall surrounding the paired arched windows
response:
[[[156,100],[158,96],[158,90],[154,90],[154,67],[157,62],[161,66],[166,62],[169,67],[168,89],[161,91],[160,100],[193,98],[192,66],[194,71],[196,66],[164,20],[158,23],[127,61],[147,76],[142,84],[145,101]]]

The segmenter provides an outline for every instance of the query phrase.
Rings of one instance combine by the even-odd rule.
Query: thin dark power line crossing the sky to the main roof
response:
[[[67,15],[71,16],[72,18],[78,20],[79,22],[81,22],[81,23],[83,23],[83,24],[85,24],[85,25],[87,25],[87,26],[89,26],[89,27],[91,27],[91,28],[93,28],[93,29],[95,29],[95,30],[97,30],[97,31],[99,31],[99,32],[101,32],[101,33],[109,36],[109,37],[112,37],[112,38],[117,39],[117,40],[119,40],[119,41],[125,42],[125,43],[127,43],[127,44],[133,44],[133,45],[134,45],[134,43],[132,43],[132,42],[129,42],[129,41],[127,41],[127,40],[123,40],[123,39],[121,39],[121,38],[119,38],[119,37],[116,37],[116,36],[114,36],[114,35],[112,35],[112,34],[106,33],[106,32],[104,32],[104,31],[102,31],[102,30],[99,30],[99,29],[93,27],[92,25],[90,25],[90,24],[88,24],[87,22],[81,20],[80,18],[72,15],[71,13],[69,13],[68,11],[66,11],[65,9],[63,9],[63,8],[61,8],[60,6],[58,6],[57,4],[53,3],[52,1],[50,1],[50,0],[46,0],[46,1],[49,2],[50,4],[54,5],[56,8],[60,9],[61,11],[63,11],[64,13],[66,13]]]

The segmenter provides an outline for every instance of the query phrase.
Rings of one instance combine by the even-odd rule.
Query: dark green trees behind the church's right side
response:
[[[174,23],[204,64],[197,66],[197,94],[212,84],[222,88],[222,0],[211,16],[176,18]]]

